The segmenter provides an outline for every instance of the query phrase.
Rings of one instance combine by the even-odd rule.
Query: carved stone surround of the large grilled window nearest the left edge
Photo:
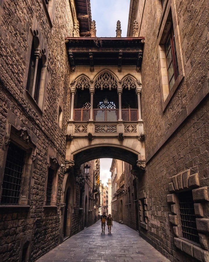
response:
[[[10,117],[10,116],[8,116]],[[12,117],[12,116],[11,116]],[[25,152],[24,166],[21,176],[19,200],[18,203],[1,203],[0,210],[4,213],[19,212],[21,210],[28,211],[30,201],[31,181],[33,175],[33,167],[36,164],[36,141],[37,137],[28,130],[21,121],[16,117],[14,122],[17,121],[17,125],[13,125],[10,121],[6,121],[6,133],[3,139],[3,168],[0,176],[0,196],[2,196],[2,183],[6,167],[6,160],[8,156],[8,148],[10,143],[14,144],[17,148],[20,148]]]

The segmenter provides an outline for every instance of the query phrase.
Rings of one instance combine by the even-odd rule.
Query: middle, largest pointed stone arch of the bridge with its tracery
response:
[[[118,77],[111,70],[104,68],[96,74],[93,79],[93,86],[98,89],[104,88],[117,88],[118,87]]]

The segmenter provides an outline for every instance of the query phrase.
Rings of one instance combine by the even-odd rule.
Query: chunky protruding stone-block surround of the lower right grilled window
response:
[[[199,261],[209,261],[209,219],[204,217],[202,205],[204,202],[209,202],[208,187],[199,187],[199,174],[198,172],[192,174],[194,169],[195,168],[185,170],[171,178],[172,182],[169,183],[169,191],[172,194],[167,195],[167,202],[171,205],[172,213],[169,214],[169,221],[173,225],[175,235],[174,244],[176,247]],[[181,224],[179,223],[179,203],[176,193],[188,190],[192,190],[192,196],[195,202],[194,212],[197,216],[196,225],[201,247],[182,237]]]

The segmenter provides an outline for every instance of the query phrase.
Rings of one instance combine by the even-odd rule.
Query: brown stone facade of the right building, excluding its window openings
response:
[[[146,172],[138,178],[138,194],[146,197],[148,227],[140,235],[171,261],[208,261],[208,229],[203,226],[209,221],[208,2],[161,2],[136,6],[131,1],[127,33],[132,36],[136,20],[139,35],[145,36],[141,105]],[[179,75],[168,89],[164,47],[172,25]],[[183,194],[193,195],[200,244],[182,235]]]

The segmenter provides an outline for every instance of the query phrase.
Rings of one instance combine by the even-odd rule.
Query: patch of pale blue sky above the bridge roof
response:
[[[130,0],[91,0],[91,18],[96,21],[97,37],[115,37],[117,21],[122,37],[127,35]]]

